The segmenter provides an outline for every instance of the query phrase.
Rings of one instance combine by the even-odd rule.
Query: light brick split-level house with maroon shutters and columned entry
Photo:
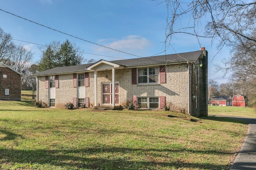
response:
[[[207,74],[208,53],[202,47],[188,53],[56,67],[34,76],[37,101],[50,107],[72,102],[76,107],[114,109],[130,100],[137,109],[168,106],[206,116]]]

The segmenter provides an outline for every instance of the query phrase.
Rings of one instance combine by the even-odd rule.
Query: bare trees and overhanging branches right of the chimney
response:
[[[218,50],[230,49],[218,71],[231,73],[228,83],[208,81],[208,98],[243,94],[256,107],[256,0],[164,0],[167,7],[166,48],[177,34],[218,41]],[[187,20],[184,20],[184,19]],[[214,55],[214,54],[212,54]]]

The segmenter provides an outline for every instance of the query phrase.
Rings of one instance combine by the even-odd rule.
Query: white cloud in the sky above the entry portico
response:
[[[106,39],[100,39],[101,43],[107,41]],[[110,47],[112,49],[120,51],[137,51],[148,49],[151,46],[151,42],[144,37],[138,35],[128,35],[127,37],[122,38],[121,40],[112,41],[105,44],[104,46]],[[104,52],[107,48],[98,47],[97,52]]]

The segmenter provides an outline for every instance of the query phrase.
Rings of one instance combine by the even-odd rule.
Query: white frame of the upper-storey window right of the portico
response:
[[[151,68],[155,68],[156,70],[154,70],[154,72],[155,72],[155,74],[150,74],[150,69]],[[139,73],[140,73],[140,70],[141,69],[146,69],[146,74],[144,75],[139,75]],[[144,68],[138,68],[138,70],[137,70],[138,72],[137,72],[137,82],[138,82],[138,84],[152,84],[152,83],[159,83],[159,66],[154,66],[154,67],[144,67]],[[143,72],[145,72],[144,70],[143,70]],[[150,82],[150,76],[157,76],[157,78],[156,78],[156,82]],[[147,77],[147,82],[139,82],[139,77]]]

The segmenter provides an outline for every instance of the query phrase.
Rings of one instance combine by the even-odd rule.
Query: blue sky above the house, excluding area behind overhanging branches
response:
[[[0,9],[93,43],[140,57],[149,57],[165,50],[163,42],[166,38],[167,9],[166,4],[160,2],[160,0],[0,0]],[[32,43],[46,45],[51,41],[63,42],[66,39],[76,43],[84,51],[84,57],[87,59],[114,61],[120,58],[136,58],[70,37],[2,11],[0,11],[0,27],[5,32],[11,33],[13,39],[31,42],[15,41],[32,50],[34,62],[40,59],[41,52],[38,45]],[[214,64],[221,64],[220,61],[224,57],[229,57],[229,51],[223,49],[216,55],[216,44],[211,45],[211,40],[200,39],[201,47],[205,47],[208,51],[208,78],[223,83],[228,77],[222,78],[222,72],[216,72]],[[201,47],[196,37],[176,35],[172,46],[166,49],[166,54],[198,51]]]

